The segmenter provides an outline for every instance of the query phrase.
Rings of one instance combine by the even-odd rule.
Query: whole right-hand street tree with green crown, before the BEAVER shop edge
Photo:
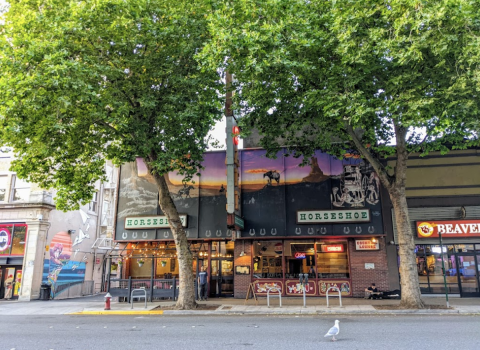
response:
[[[211,16],[202,60],[234,75],[244,133],[256,128],[270,156],[282,143],[304,159],[317,148],[339,157],[353,150],[375,169],[393,203],[404,307],[424,307],[407,160],[478,140],[479,6],[236,0]]]

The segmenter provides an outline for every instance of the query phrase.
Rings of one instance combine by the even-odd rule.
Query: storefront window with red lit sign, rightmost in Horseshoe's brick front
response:
[[[347,243],[338,241],[318,243],[317,272],[319,278],[349,278]]]

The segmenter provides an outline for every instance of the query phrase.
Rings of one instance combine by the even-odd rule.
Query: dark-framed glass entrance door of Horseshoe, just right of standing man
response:
[[[212,259],[210,264],[210,295],[233,297],[233,259]]]

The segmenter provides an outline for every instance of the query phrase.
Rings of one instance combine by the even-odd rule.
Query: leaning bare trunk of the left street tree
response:
[[[147,163],[150,174],[155,179],[158,187],[160,209],[167,216],[170,228],[177,248],[178,268],[179,268],[179,294],[176,308],[180,310],[191,310],[197,307],[195,302],[194,276],[193,276],[193,257],[188,248],[187,235],[180,221],[175,203],[173,203],[167,181],[164,176],[158,175],[153,167]]]

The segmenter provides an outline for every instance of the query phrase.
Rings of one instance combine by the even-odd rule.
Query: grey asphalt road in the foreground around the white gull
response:
[[[324,334],[340,320],[338,341]],[[479,350],[479,316],[2,316],[0,350]]]

